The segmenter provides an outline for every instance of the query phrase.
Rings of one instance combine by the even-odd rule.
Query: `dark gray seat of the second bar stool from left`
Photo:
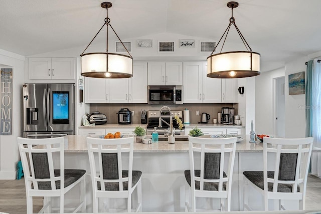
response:
[[[136,185],[139,178],[141,177],[141,171],[132,171],[131,186]],[[122,170],[122,177],[128,177],[128,170]],[[97,182],[98,190],[101,190],[100,182]],[[122,182],[122,189],[128,190],[128,181]],[[119,191],[118,182],[105,183],[105,190],[107,191]]]

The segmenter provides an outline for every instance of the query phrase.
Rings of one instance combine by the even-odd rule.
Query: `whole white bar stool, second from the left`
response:
[[[127,212],[131,212],[131,194],[137,188],[137,207],[141,211],[141,171],[132,170],[133,137],[100,139],[87,137],[93,211],[99,211],[99,198],[127,198]],[[128,153],[128,159],[125,153]],[[98,159],[96,165],[95,157]],[[128,165],[128,170],[124,166]],[[103,187],[102,187],[103,186]]]

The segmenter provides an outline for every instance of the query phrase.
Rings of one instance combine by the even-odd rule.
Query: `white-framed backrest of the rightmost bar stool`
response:
[[[264,190],[268,191],[268,182],[273,183],[272,192],[277,192],[278,184],[292,185],[292,192],[305,192],[307,172],[310,163],[313,137],[307,138],[271,138],[263,140],[263,176]],[[275,154],[272,166],[273,178],[268,178],[268,167],[274,161],[268,160],[268,153]]]

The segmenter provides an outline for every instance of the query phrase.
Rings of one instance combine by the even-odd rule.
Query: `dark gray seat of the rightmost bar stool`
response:
[[[263,171],[244,171],[243,174],[247,179],[249,179],[249,181],[251,181],[257,187],[264,189]],[[267,177],[273,178],[274,171],[267,171]],[[273,183],[268,182],[267,190],[273,191]],[[279,183],[277,186],[277,191],[292,192],[292,184]],[[299,187],[297,187],[297,191],[300,191]]]

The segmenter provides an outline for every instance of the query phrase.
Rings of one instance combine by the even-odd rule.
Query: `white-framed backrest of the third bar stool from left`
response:
[[[231,189],[232,174],[235,158],[236,137],[203,138],[189,137],[191,186],[195,191],[204,191],[204,182],[218,183],[218,191],[223,189],[223,182],[227,182],[226,191]],[[199,166],[195,166],[195,154],[201,154]],[[229,154],[228,169],[224,171],[224,158]],[[200,169],[200,177],[195,176],[195,169]],[[226,173],[226,175],[223,173]],[[195,189],[195,181],[200,182],[199,190]]]

